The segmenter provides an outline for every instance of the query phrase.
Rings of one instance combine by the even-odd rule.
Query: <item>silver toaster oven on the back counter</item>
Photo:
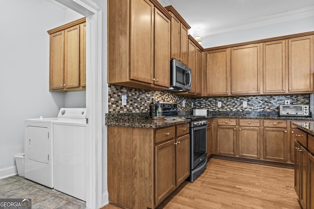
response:
[[[280,116],[310,116],[309,105],[280,105]]]

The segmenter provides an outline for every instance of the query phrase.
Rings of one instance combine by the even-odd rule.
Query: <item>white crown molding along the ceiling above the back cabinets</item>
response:
[[[288,12],[282,12],[274,15],[268,15],[260,18],[250,19],[238,23],[223,25],[220,27],[213,27],[209,30],[195,31],[201,37],[208,37],[212,35],[218,35],[222,33],[233,32],[237,30],[244,30],[248,28],[260,27],[264,25],[282,23],[293,21],[297,19],[307,18],[314,16],[314,6],[304,7],[301,9],[291,10]]]

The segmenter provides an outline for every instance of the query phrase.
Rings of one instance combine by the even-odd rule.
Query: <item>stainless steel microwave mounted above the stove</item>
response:
[[[191,90],[191,69],[177,60],[170,61],[170,91]]]

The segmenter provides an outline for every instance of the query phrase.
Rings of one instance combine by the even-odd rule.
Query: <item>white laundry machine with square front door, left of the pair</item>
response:
[[[84,112],[84,114],[81,114]],[[25,119],[25,178],[53,188],[53,123],[86,116],[85,108],[61,108],[57,117]]]

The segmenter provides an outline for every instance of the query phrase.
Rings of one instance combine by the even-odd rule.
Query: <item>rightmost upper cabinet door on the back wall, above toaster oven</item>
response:
[[[313,92],[313,36],[289,39],[289,92]]]

